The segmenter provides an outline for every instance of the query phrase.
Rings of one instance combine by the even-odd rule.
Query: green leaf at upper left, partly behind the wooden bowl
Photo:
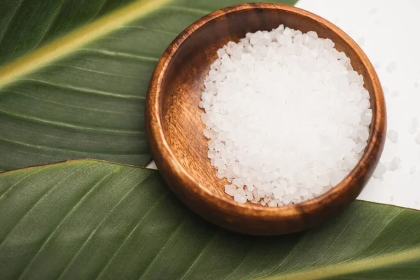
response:
[[[145,165],[144,98],[160,55],[198,18],[240,2],[0,1],[0,171],[75,158]]]

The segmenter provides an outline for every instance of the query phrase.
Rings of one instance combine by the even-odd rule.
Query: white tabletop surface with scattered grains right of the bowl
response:
[[[360,200],[420,209],[420,144],[409,134],[412,117],[420,119],[420,1],[301,0],[297,7],[321,15],[346,31],[365,50],[386,92],[388,129],[398,132],[398,142],[386,139],[381,162],[395,156],[400,167],[383,179],[370,180]],[[395,62],[395,71],[387,67]],[[409,174],[412,167],[416,173]],[[148,165],[155,168],[154,162]]]

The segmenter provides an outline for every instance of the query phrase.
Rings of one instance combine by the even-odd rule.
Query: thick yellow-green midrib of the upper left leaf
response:
[[[90,43],[100,36],[119,29],[123,25],[148,15],[153,10],[169,3],[172,0],[141,0],[135,1],[109,15],[106,15],[94,22],[79,27],[69,34],[57,38],[29,52],[27,55],[16,59],[13,62],[0,67],[0,88],[13,83],[18,78],[39,69],[45,64],[52,62],[70,52],[77,50],[82,45]]]

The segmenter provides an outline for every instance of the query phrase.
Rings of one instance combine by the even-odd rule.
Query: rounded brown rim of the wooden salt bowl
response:
[[[358,53],[360,61],[363,64],[363,68],[366,69],[367,76],[369,76],[372,80],[372,92],[370,92],[370,94],[374,96],[373,102],[375,106],[370,127],[370,138],[367,141],[367,147],[365,148],[363,156],[358,161],[356,167],[354,167],[337,186],[332,187],[330,190],[328,190],[328,192],[323,193],[323,195],[314,197],[311,200],[307,200],[305,202],[291,204],[283,207],[261,207],[260,205],[249,203],[240,204],[232,199],[223,197],[218,193],[214,193],[213,191],[209,190],[209,188],[206,188],[206,186],[200,183],[200,181],[197,181],[191,174],[186,171],[186,169],[183,168],[181,162],[179,162],[179,160],[172,152],[172,149],[167,143],[161,120],[162,111],[160,109],[159,100],[162,94],[162,84],[164,82],[169,63],[172,61],[172,58],[176,52],[178,52],[179,48],[182,47],[183,43],[188,40],[189,36],[194,34],[195,31],[204,25],[218,20],[218,18],[223,17],[226,14],[237,13],[243,10],[253,10],[255,8],[262,10],[287,10],[288,13],[295,13],[319,22],[326,29],[337,34],[340,40],[348,45],[349,48],[353,50],[353,52]],[[372,102],[372,99],[370,99],[370,102]],[[167,47],[162,57],[160,58],[155,72],[151,78],[151,82],[149,83],[148,93],[146,96],[146,121],[146,126],[149,128],[149,142],[152,141],[152,143],[155,144],[156,153],[166,155],[165,157],[161,157],[162,165],[169,167],[174,175],[181,179],[182,184],[180,184],[179,188],[195,188],[194,192],[196,195],[203,197],[211,204],[217,204],[221,210],[227,213],[240,215],[246,213],[246,215],[264,216],[265,218],[269,219],[281,217],[290,218],[290,216],[301,216],[302,212],[314,211],[315,209],[318,209],[321,205],[321,202],[332,202],[337,197],[340,197],[342,193],[346,193],[346,190],[348,191],[349,188],[358,188],[357,194],[360,194],[365,184],[360,184],[361,186],[353,186],[351,182],[358,181],[362,179],[363,176],[366,176],[363,170],[367,170],[369,173],[367,176],[370,176],[374,170],[374,167],[377,165],[377,162],[374,160],[374,155],[377,153],[380,154],[384,146],[384,135],[386,130],[386,106],[381,85],[379,83],[379,78],[376,71],[374,71],[372,63],[365,55],[365,52],[363,52],[363,50],[361,50],[361,48],[357,45],[357,43],[337,26],[331,22],[328,22],[328,20],[321,18],[319,15],[315,15],[314,13],[310,13],[307,10],[296,8],[294,6],[288,6],[280,3],[241,3],[234,6],[229,6],[227,8],[222,8],[220,10],[215,10],[208,15],[204,15],[204,17],[195,21],[192,25],[182,31],[181,34],[179,34],[179,36],[177,36],[174,41],[172,41],[172,43]],[[156,162],[156,165],[158,165],[158,168],[160,167],[158,162]],[[163,176],[165,178],[165,174]]]

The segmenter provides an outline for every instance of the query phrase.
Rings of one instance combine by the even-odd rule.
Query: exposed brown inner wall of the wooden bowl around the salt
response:
[[[183,41],[169,63],[162,80],[160,118],[169,148],[186,172],[202,186],[229,200],[232,197],[224,192],[228,181],[216,177],[216,169],[207,158],[208,139],[202,133],[205,126],[201,120],[204,110],[198,107],[204,77],[217,58],[218,48],[229,41],[239,41],[247,32],[271,30],[281,24],[302,32],[316,31],[319,37],[334,41],[335,48],[344,51],[350,57],[353,68],[363,75],[374,111],[372,122],[376,118],[372,80],[367,75],[367,69],[356,51],[346,43],[349,38],[343,38],[323,22],[294,11],[269,8],[237,10],[210,20]]]

